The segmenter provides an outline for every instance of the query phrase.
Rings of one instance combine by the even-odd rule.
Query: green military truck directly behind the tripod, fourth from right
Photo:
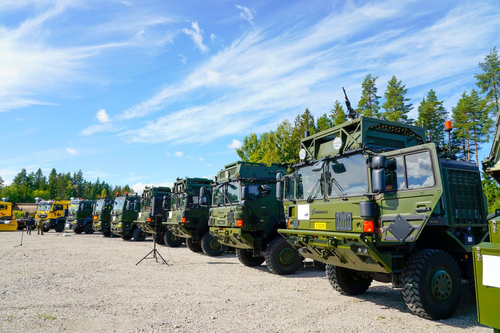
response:
[[[182,240],[166,230],[162,224],[166,222],[166,214],[170,210],[170,195],[171,190],[169,187],[146,186],[140,196],[140,202],[137,203],[140,208],[135,208],[139,210],[135,223],[144,233],[156,234],[154,238],[156,244],[165,244],[165,239],[167,241],[171,240],[175,244],[180,241],[180,244],[182,244]],[[165,200],[168,209],[162,208],[163,200]],[[170,245],[172,242],[166,244]]]

